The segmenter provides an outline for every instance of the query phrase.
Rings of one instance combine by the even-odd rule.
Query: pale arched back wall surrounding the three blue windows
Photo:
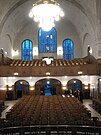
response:
[[[69,21],[64,22],[63,20],[60,20],[60,22],[56,22],[56,23],[57,23],[56,25],[57,47],[62,47],[63,40],[69,38],[74,42],[75,57],[76,58],[82,57],[81,41],[75,26],[73,26],[71,22]],[[23,27],[23,29],[21,29],[21,31],[17,34],[13,43],[14,44],[13,49],[19,50],[20,54],[18,58],[21,58],[21,43],[25,39],[31,39],[33,42],[33,47],[38,47],[38,26],[36,23],[33,22],[25,25],[25,27]],[[38,57],[34,56],[34,58],[38,58]],[[61,57],[57,56],[57,58],[62,58],[62,56]]]

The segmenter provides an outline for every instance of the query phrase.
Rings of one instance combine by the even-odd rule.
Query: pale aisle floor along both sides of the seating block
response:
[[[18,100],[13,100],[13,101],[5,101],[5,106],[7,108],[2,112],[1,118],[6,118],[6,112],[9,111],[9,109],[12,108],[12,106],[17,102]],[[98,117],[99,120],[101,121],[101,115],[96,112],[92,107],[89,105],[92,104],[92,100],[83,100],[83,104],[91,111],[91,116],[93,117]]]

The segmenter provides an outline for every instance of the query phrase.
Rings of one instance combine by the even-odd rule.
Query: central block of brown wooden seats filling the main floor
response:
[[[24,96],[7,113],[8,126],[94,125],[91,112],[75,97]]]

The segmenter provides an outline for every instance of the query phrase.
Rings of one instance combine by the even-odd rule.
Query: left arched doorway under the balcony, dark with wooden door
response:
[[[25,80],[19,80],[15,82],[15,99],[21,98],[23,95],[29,93],[29,83]]]

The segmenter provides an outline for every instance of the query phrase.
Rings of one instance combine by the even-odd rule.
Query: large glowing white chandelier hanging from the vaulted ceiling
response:
[[[55,26],[54,22],[63,16],[64,12],[55,0],[39,0],[29,13],[29,17],[39,22],[39,27],[44,31],[50,31]]]

